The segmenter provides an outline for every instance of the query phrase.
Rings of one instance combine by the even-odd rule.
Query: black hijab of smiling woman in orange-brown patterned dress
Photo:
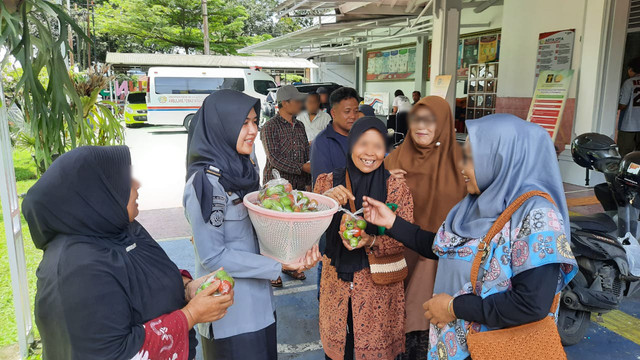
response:
[[[349,172],[353,195],[355,196],[356,209],[362,208],[362,197],[369,196],[379,201],[387,200],[387,180],[389,172],[384,168],[384,162],[376,170],[365,174],[361,172],[351,159],[351,151],[360,136],[367,130],[375,129],[380,132],[383,143],[385,142],[385,134],[387,129],[375,116],[365,116],[358,119],[349,131],[348,142],[349,151],[347,153],[346,168],[336,169],[333,172],[333,186],[346,186],[346,171]],[[342,244],[342,239],[338,232],[340,231],[340,220],[342,212],[338,212],[333,216],[331,225],[327,230],[327,247],[326,254],[331,258],[331,265],[336,267],[338,277],[344,281],[353,281],[353,273],[369,266],[369,260],[364,248],[349,251]],[[377,235],[378,228],[374,225],[367,225],[366,233],[369,235]]]

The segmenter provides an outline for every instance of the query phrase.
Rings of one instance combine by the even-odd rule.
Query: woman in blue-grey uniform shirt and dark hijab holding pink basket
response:
[[[236,279],[235,304],[227,316],[198,326],[205,359],[277,359],[270,280],[283,269],[304,271],[320,260],[317,245],[294,264],[259,254],[242,203],[260,183],[252,159],[259,113],[260,100],[219,90],[204,100],[189,129],[183,203],[193,232],[196,274],[223,266]]]

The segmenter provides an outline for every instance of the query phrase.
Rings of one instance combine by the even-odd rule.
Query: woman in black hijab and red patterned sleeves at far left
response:
[[[191,281],[135,221],[139,184],[126,146],[58,158],[22,210],[38,267],[35,317],[43,359],[195,358],[196,323],[224,316],[233,293],[195,295]]]

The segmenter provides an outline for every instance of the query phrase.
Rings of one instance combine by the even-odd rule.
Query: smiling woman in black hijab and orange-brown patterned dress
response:
[[[377,118],[358,119],[349,132],[346,168],[319,175],[315,192],[342,206],[352,200],[355,210],[362,207],[365,195],[395,203],[398,216],[413,221],[409,188],[403,180],[390,177],[384,167],[386,133]],[[347,173],[353,193],[346,188]],[[341,213],[333,217],[322,261],[320,338],[326,357],[354,359],[355,352],[357,359],[392,360],[404,351],[404,285],[401,280],[375,283],[367,254],[376,258],[398,255],[404,247],[389,236],[377,236],[378,228],[368,225],[358,246],[352,248],[339,234],[341,221]]]

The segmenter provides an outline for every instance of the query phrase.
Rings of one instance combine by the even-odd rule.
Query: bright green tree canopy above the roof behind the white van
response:
[[[300,19],[276,21],[277,5],[278,0],[207,0],[211,52],[236,54],[244,46],[306,25]],[[86,15],[78,16],[80,21],[83,17]],[[107,51],[202,53],[202,3],[201,0],[100,0],[95,5],[92,32],[98,59],[104,59]]]

